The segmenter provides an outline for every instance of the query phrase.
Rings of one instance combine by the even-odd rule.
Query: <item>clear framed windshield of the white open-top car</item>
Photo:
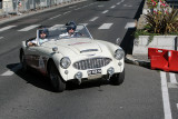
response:
[[[44,30],[46,38],[48,40],[61,40],[61,39],[71,39],[71,38],[89,38],[92,39],[91,34],[89,33],[86,26],[77,26],[77,29],[73,31],[73,33],[69,34],[67,32],[67,26],[55,26],[48,29],[40,29],[37,32],[37,37],[41,38],[41,31]]]

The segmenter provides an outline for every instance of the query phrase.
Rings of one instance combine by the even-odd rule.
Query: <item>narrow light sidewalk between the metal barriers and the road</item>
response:
[[[75,4],[75,3],[79,3],[79,2],[83,2],[83,1],[86,1],[86,0],[75,0],[75,1],[71,1],[71,2],[63,2],[61,4],[53,6],[53,7],[50,7],[50,8],[28,11],[28,12],[24,12],[24,13],[21,13],[21,14],[16,14],[16,16],[12,16],[12,14],[8,14],[6,17],[0,16],[0,24],[9,22],[9,21],[18,20],[18,19],[24,18],[24,17],[29,17],[29,16],[32,16],[32,14],[36,14],[36,13],[46,12],[46,11],[49,11],[49,10],[53,10],[53,9],[57,9],[57,8],[62,8],[62,7],[66,7],[66,6],[70,6],[70,4]]]

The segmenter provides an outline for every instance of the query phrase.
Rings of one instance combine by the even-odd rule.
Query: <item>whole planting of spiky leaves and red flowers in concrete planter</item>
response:
[[[147,24],[144,29],[136,30],[135,38],[149,36],[149,44],[154,36],[178,36],[178,9],[169,10],[165,0],[147,0],[147,4],[150,8],[150,12],[145,14]]]

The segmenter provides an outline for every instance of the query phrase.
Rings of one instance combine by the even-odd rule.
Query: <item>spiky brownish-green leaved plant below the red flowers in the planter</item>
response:
[[[147,24],[145,30],[151,33],[170,34],[178,32],[178,9],[172,9],[170,13],[164,14],[158,12],[156,14],[145,14]]]

